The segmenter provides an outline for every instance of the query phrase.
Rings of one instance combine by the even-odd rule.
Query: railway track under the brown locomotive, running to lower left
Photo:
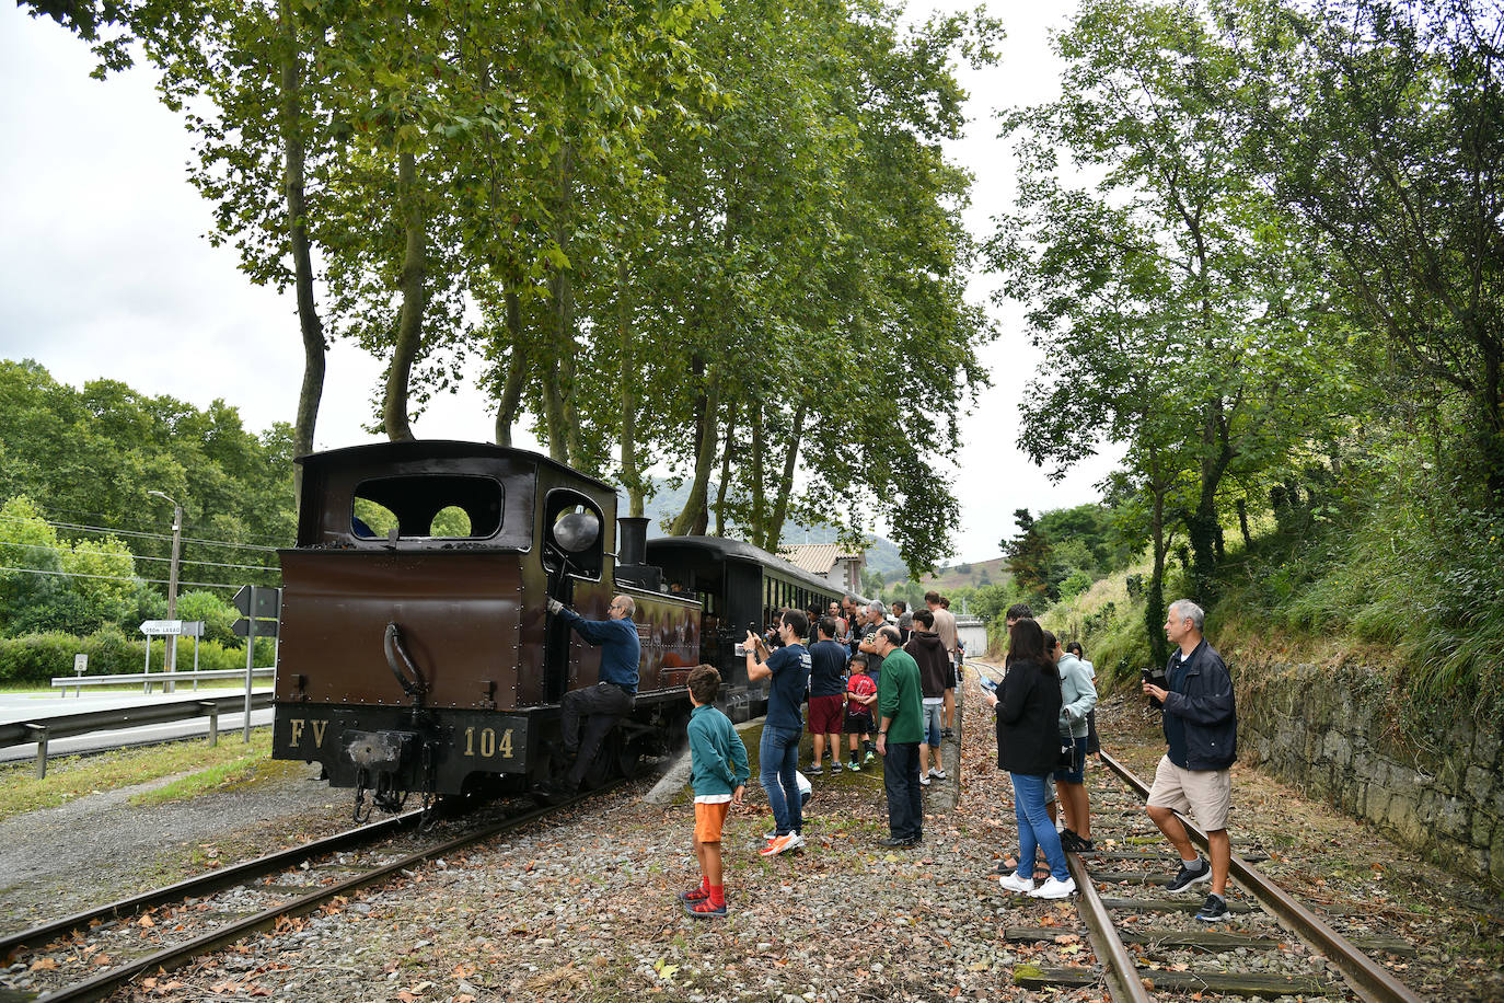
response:
[[[0,1000],[105,998],[138,976],[171,971],[251,934],[275,929],[331,904],[340,905],[341,896],[623,783],[627,780],[559,805],[507,815],[457,836],[420,838],[415,848],[391,845],[393,839],[418,827],[421,812],[405,812],[8,934],[0,937],[0,959],[12,964],[35,956],[29,965],[35,985],[17,991],[0,979]]]

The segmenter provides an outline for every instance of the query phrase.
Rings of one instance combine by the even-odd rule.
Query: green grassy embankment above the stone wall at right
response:
[[[1391,693],[1408,728],[1436,714],[1504,713],[1504,531],[1478,513],[1429,511],[1424,498],[1361,510],[1305,510],[1253,525],[1251,546],[1226,528],[1208,636],[1224,653],[1292,663],[1360,665]],[[1492,534],[1492,535],[1489,535]],[[1041,623],[1077,639],[1104,689],[1149,663],[1148,565],[1098,580]],[[1166,601],[1184,595],[1172,561]]]

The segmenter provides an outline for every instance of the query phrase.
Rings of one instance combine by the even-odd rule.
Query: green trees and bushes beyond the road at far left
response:
[[[254,436],[223,402],[199,411],[114,380],[74,389],[30,361],[0,361],[0,483],[15,492],[0,507],[0,635],[165,615],[171,507],[149,490],[183,504],[183,582],[229,595],[277,580],[271,546],[293,535],[286,427]]]

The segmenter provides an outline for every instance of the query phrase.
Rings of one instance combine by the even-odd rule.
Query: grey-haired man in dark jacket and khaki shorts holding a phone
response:
[[[1206,614],[1188,598],[1170,603],[1164,635],[1179,650],[1166,666],[1169,689],[1145,683],[1143,692],[1164,704],[1164,738],[1170,750],[1160,759],[1149,791],[1149,818],[1181,854],[1181,871],[1166,886],[1179,892],[1208,878],[1211,895],[1196,919],[1215,923],[1227,919],[1227,868],[1232,841],[1227,812],[1232,808],[1230,767],[1238,758],[1238,711],[1232,677],[1217,650],[1202,632]],[[1211,865],[1191,847],[1176,812],[1191,815],[1206,830]]]

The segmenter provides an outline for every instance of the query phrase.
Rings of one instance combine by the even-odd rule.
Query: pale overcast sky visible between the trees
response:
[[[911,17],[940,6],[914,3]],[[1056,89],[1047,30],[1074,3],[1008,5],[1000,66],[963,72],[970,129],[951,155],[976,174],[967,223],[978,235],[1012,200],[1012,158],[994,113]],[[224,398],[263,430],[292,423],[302,374],[295,302],[253,286],[232,248],[212,248],[209,205],[188,185],[188,135],[162,107],[149,71],[89,78],[87,48],[51,20],[0,3],[0,356],[33,358],[56,379],[111,377],[146,394],[200,408]],[[996,278],[976,275],[985,304]],[[1015,448],[1018,395],[1039,365],[1018,310],[988,310],[1002,337],[984,361],[993,386],[963,424],[954,471],[963,519],[960,559],[997,556],[1015,508],[1095,501],[1108,463],[1050,484]],[[368,442],[381,362],[335,344],[329,353],[316,445]],[[3,429],[3,420],[0,420]],[[414,426],[421,438],[487,441],[493,424],[478,392],[445,395]]]

